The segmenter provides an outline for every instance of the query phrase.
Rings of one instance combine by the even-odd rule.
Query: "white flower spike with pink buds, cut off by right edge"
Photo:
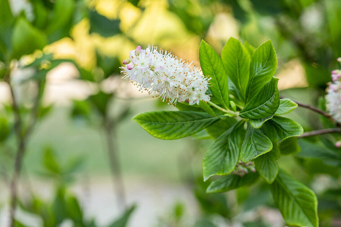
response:
[[[341,63],[341,58],[337,59]],[[328,83],[326,99],[327,111],[333,119],[341,123],[341,70],[331,72],[332,82]]]

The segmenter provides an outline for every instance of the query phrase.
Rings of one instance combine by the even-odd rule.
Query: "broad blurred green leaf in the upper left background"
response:
[[[42,49],[47,44],[46,35],[34,28],[23,18],[19,18],[12,34],[12,57],[19,59],[23,55],[31,54],[36,49]]]

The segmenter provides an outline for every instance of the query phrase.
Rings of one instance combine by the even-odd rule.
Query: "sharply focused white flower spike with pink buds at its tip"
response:
[[[191,63],[170,52],[150,45],[145,50],[138,46],[130,51],[129,59],[123,64],[123,79],[130,79],[140,90],[146,90],[169,104],[186,101],[193,105],[199,104],[200,100],[210,100],[206,94],[210,78],[203,76],[195,66],[191,70]]]

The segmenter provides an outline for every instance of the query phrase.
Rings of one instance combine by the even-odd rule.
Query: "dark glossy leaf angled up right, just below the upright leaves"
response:
[[[277,83],[278,79],[272,77],[244,106],[239,116],[242,118],[260,119],[273,115],[280,103]]]

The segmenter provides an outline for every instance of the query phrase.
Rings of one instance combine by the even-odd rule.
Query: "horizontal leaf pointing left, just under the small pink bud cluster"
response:
[[[258,180],[257,172],[249,172],[248,174],[240,177],[236,174],[231,174],[218,178],[213,181],[208,187],[207,193],[226,192],[241,186],[248,186]]]

